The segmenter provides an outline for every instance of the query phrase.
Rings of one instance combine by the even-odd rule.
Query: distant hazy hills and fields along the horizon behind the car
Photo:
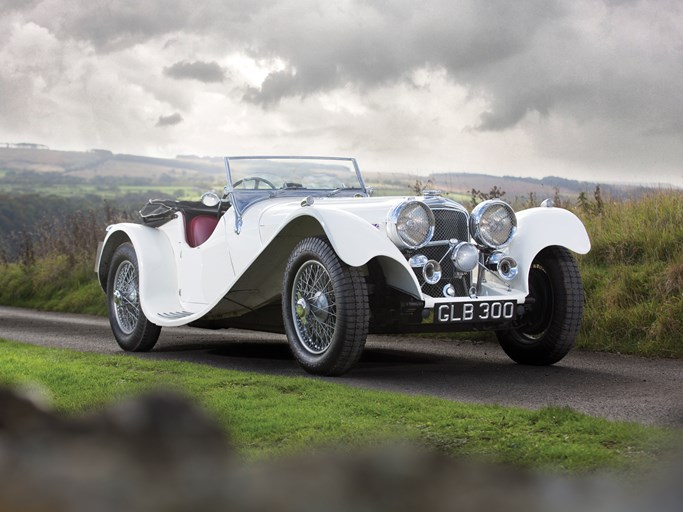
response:
[[[556,194],[563,200],[575,199],[580,192],[590,193],[596,185],[556,177],[534,179],[425,170],[419,173],[397,173],[377,172],[363,168],[362,165],[361,168],[366,182],[375,188],[378,196],[412,194],[419,181],[423,188],[441,190],[464,203],[469,202],[472,189],[486,193],[495,186],[505,191],[506,200],[523,203],[530,194],[539,202]],[[171,188],[146,190],[170,190],[174,193],[177,188],[186,191],[186,187],[209,190],[215,184],[225,181],[220,158],[151,158],[114,154],[106,150],[77,152],[0,148],[0,169],[3,170],[0,172],[0,191],[28,193],[39,190],[40,193],[52,192],[58,195],[67,195],[68,191],[74,191],[72,195],[93,193],[112,197],[116,192],[109,187],[114,185],[168,186]],[[23,181],[26,183],[22,178],[25,178]],[[641,195],[645,189],[603,184],[602,191],[614,197],[635,197]]]

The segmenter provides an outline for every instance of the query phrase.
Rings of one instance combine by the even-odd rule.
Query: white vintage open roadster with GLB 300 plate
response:
[[[522,364],[572,347],[583,289],[570,251],[590,241],[544,202],[469,212],[426,192],[370,197],[350,158],[225,158],[227,185],[201,201],[151,200],[98,251],[114,337],[150,350],[162,327],[287,334],[311,373],[339,375],[368,333],[494,330]]]

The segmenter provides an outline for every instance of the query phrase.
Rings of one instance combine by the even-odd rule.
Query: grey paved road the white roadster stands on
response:
[[[0,307],[0,337],[80,351],[120,352],[106,319]],[[284,336],[249,331],[163,329],[138,357],[306,376]],[[314,377],[311,377],[314,378]],[[370,336],[351,386],[449,400],[539,408],[569,406],[594,416],[683,427],[683,361],[574,351],[551,367],[511,362],[497,344]]]

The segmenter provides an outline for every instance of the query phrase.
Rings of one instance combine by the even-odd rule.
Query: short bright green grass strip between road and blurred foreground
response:
[[[466,405],[207,366],[106,356],[0,339],[0,383],[38,384],[55,407],[83,413],[163,386],[193,397],[248,459],[316,447],[410,440],[452,455],[557,471],[633,470],[656,461],[671,431],[566,408]]]

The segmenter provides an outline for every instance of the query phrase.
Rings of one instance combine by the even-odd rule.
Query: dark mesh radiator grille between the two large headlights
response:
[[[415,254],[424,254],[427,258],[438,261],[441,264],[442,277],[438,283],[430,285],[424,282],[422,269],[415,269],[417,279],[422,284],[422,291],[432,297],[443,297],[443,288],[447,283],[453,285],[456,296],[466,296],[470,288],[470,275],[458,274],[450,254],[447,253],[450,249],[449,240],[469,241],[469,214],[463,210],[443,207],[432,208],[432,212],[435,221],[432,241],[415,251]]]

